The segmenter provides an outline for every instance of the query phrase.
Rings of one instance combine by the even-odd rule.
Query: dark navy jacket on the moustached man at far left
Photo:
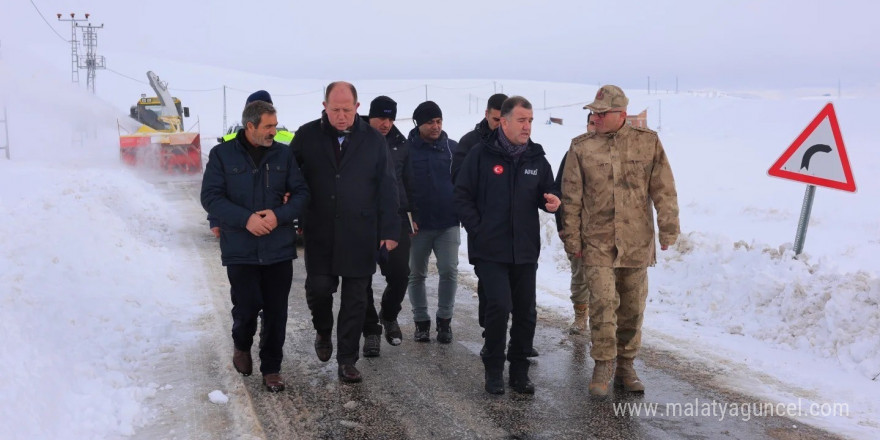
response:
[[[290,147],[273,142],[259,164],[247,153],[244,132],[211,149],[202,177],[201,202],[220,226],[223,265],[274,264],[296,258],[296,231],[309,190]],[[290,200],[283,203],[284,193]],[[251,214],[271,209],[278,219],[268,235],[257,237],[246,229]]]

